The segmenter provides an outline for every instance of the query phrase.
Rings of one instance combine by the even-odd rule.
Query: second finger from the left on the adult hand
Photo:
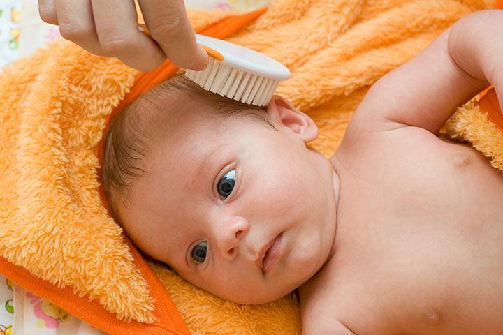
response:
[[[110,56],[101,49],[89,0],[56,0],[59,32],[85,50],[99,56]]]

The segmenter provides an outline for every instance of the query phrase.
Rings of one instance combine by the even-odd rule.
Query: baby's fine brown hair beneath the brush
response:
[[[155,135],[162,132],[163,126],[164,128],[171,126],[167,119],[169,113],[183,110],[183,107],[176,105],[187,99],[201,100],[210,107],[209,112],[214,116],[230,117],[233,114],[244,113],[276,129],[270,123],[264,107],[246,105],[205,91],[182,75],[161,82],[126,105],[106,134],[103,184],[112,213],[114,209],[111,189],[121,194],[124,200],[128,198],[126,194],[133,181],[140,175],[147,174],[142,162],[149,152],[150,144],[157,138]],[[157,102],[161,102],[161,105]],[[201,117],[208,117],[208,113],[201,114]]]

